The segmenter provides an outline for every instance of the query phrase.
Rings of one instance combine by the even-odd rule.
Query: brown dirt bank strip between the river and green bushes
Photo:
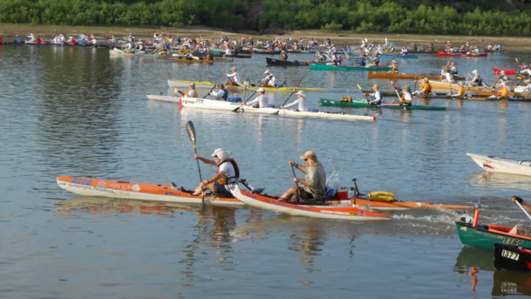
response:
[[[181,37],[195,37],[200,34],[205,35],[209,40],[219,39],[226,35],[232,39],[240,39],[241,37],[252,36],[257,39],[274,39],[280,37],[281,39],[298,39],[304,38],[306,41],[310,38],[316,38],[318,42],[323,42],[326,37],[332,39],[337,45],[351,44],[357,46],[362,39],[369,39],[375,44],[383,44],[386,37],[389,42],[394,42],[396,46],[405,46],[411,41],[415,41],[417,46],[426,46],[429,42],[434,46],[443,46],[449,40],[454,46],[470,44],[478,47],[486,46],[487,43],[501,44],[507,51],[525,52],[531,48],[530,37],[490,37],[490,36],[464,36],[464,35],[409,35],[409,34],[395,34],[395,33],[353,33],[348,30],[329,32],[324,30],[294,30],[286,31],[276,34],[259,35],[258,33],[250,32],[227,32],[219,28],[207,28],[202,26],[186,26],[180,28],[145,28],[145,27],[113,27],[113,26],[53,26],[53,25],[38,25],[32,26],[28,24],[0,24],[0,35],[4,42],[11,42],[18,35],[26,38],[30,33],[41,35],[41,37],[48,38],[54,33],[63,33],[65,35],[77,36],[79,33],[93,34],[96,38],[101,39],[104,35],[115,35],[117,38],[124,38],[131,32],[134,33],[137,39],[151,39],[153,33],[160,30],[160,33],[165,35],[180,35]]]

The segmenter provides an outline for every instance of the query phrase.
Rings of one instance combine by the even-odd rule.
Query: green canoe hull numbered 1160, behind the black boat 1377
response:
[[[531,247],[531,239],[496,233],[488,226],[478,224],[475,228],[464,221],[456,221],[457,233],[461,243],[465,246],[494,251],[494,243],[505,243],[516,246]]]

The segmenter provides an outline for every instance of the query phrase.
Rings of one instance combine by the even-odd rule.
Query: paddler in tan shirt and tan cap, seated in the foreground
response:
[[[279,200],[293,202],[292,197],[297,192],[301,203],[314,203],[324,200],[326,197],[326,172],[323,165],[319,163],[313,151],[305,152],[301,156],[301,160],[304,161],[305,165],[299,165],[299,163],[295,163],[292,160],[289,161],[289,164],[306,174],[306,179],[293,178],[293,181],[300,183],[301,186],[297,188],[297,185],[292,185],[282,194]]]

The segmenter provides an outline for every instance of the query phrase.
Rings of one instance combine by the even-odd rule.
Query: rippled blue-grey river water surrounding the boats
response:
[[[55,182],[92,176],[194,188],[198,170],[185,130],[192,120],[199,154],[229,149],[241,176],[268,194],[286,190],[288,160],[313,149],[330,185],[350,186],[355,177],[363,193],[481,202],[481,221],[512,225],[528,221],[510,197],[531,198],[531,178],[483,172],[466,153],[530,158],[531,103],[434,99],[429,105],[448,110],[344,110],[375,115],[375,122],[181,110],[145,95],[173,92],[168,78],[224,82],[232,66],[256,82],[268,68],[265,56],[205,66],[109,57],[104,48],[0,46],[0,57],[2,298],[531,296],[530,275],[495,271],[492,252],[463,248],[454,224],[463,212],[391,212],[390,221],[370,223],[253,208],[201,212],[77,197]],[[500,53],[455,61],[460,75],[478,69],[492,84],[490,68],[512,68],[515,57],[531,59]],[[446,61],[420,55],[399,67],[436,74]],[[389,90],[364,72],[269,69],[290,86],[302,78],[301,86],[330,88],[307,93],[315,109],[319,98],[359,98],[356,84]],[[201,164],[201,172],[210,177],[215,169]]]

